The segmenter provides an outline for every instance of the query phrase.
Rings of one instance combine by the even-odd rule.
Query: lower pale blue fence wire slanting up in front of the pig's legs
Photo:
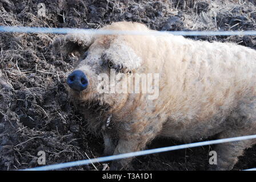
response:
[[[247,135],[247,136],[243,136],[243,137],[224,138],[224,139],[210,140],[210,141],[205,141],[205,142],[181,144],[178,146],[154,148],[154,149],[150,149],[150,150],[130,152],[130,153],[119,154],[119,155],[111,155],[111,156],[105,156],[105,157],[95,158],[95,159],[78,160],[75,162],[67,162],[67,163],[53,164],[53,165],[49,165],[49,166],[27,168],[27,169],[22,169],[22,171],[48,171],[48,170],[62,169],[62,168],[67,168],[67,167],[81,166],[81,165],[86,165],[86,164],[91,164],[91,163],[107,162],[110,160],[130,158],[130,157],[140,156],[140,155],[155,154],[155,153],[159,153],[159,152],[179,150],[179,149],[183,149],[183,148],[192,148],[192,147],[206,146],[206,145],[210,145],[210,144],[235,142],[235,141],[239,141],[239,140],[247,140],[247,139],[255,139],[255,138],[256,138],[256,135]]]

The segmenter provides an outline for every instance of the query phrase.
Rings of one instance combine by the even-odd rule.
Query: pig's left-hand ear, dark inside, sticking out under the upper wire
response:
[[[53,47],[55,52],[61,52],[63,55],[71,52],[78,52],[81,55],[90,47],[93,39],[92,35],[68,34],[54,40],[50,47]]]

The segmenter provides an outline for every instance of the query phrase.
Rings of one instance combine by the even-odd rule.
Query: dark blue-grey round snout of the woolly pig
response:
[[[71,89],[80,92],[87,88],[89,81],[85,73],[80,70],[76,70],[67,77],[67,84]]]

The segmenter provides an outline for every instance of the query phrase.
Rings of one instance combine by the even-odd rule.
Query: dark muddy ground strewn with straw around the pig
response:
[[[45,3],[46,17],[37,14]],[[145,23],[154,30],[254,30],[255,1],[81,1],[0,0],[0,26],[99,28],[117,21]],[[77,57],[54,54],[59,35],[0,33],[0,70],[13,89],[0,89],[0,169],[39,166],[102,156],[103,141],[86,127],[70,102],[65,79]],[[255,36],[195,36],[235,42],[256,49]],[[214,139],[214,138],[211,138]],[[182,144],[155,139],[147,148]],[[206,170],[213,146],[187,148],[135,158],[134,170]],[[256,167],[256,146],[245,151],[234,170]],[[104,164],[95,164],[99,170]],[[91,165],[64,170],[95,170]]]

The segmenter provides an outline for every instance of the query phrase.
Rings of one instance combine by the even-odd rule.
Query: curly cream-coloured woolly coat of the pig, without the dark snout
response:
[[[130,22],[113,23],[104,28],[153,31],[143,24]],[[90,125],[91,130],[105,133],[107,154],[142,150],[158,136],[190,142],[213,135],[228,138],[256,133],[254,49],[169,34],[73,34],[55,40],[54,46],[60,47],[63,53],[78,51],[81,55],[74,70],[86,74],[89,86],[82,92],[70,89],[69,93],[82,113],[87,111],[87,104],[83,102],[108,106],[98,113],[98,124]],[[149,100],[149,94],[142,93],[98,93],[97,76],[99,73],[110,75],[109,68],[104,66],[109,60],[130,73],[159,73],[159,97]],[[106,130],[110,115],[111,127]],[[218,164],[213,169],[232,169],[243,150],[254,143],[256,140],[218,144],[215,148]],[[130,160],[113,162],[111,169],[126,167]]]

